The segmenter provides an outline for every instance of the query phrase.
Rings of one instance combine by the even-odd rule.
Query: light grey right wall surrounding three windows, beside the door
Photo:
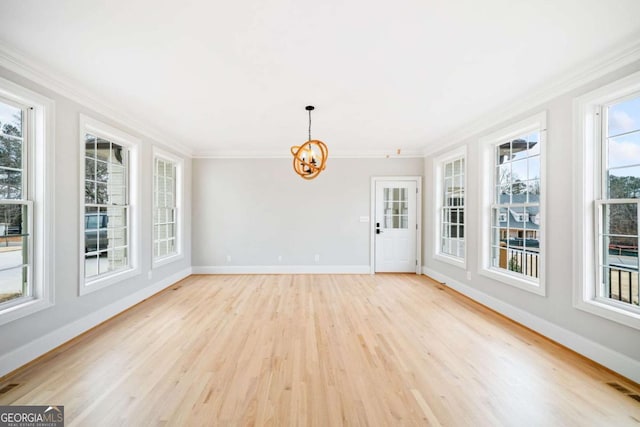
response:
[[[426,273],[440,280],[450,282],[470,296],[493,305],[498,311],[508,312],[528,326],[540,330],[562,344],[580,350],[589,357],[623,373],[636,381],[640,378],[640,331],[603,319],[601,317],[577,310],[572,305],[572,287],[577,278],[573,276],[573,219],[572,219],[572,165],[573,165],[573,100],[575,97],[589,92],[606,83],[617,80],[640,70],[640,63],[626,66],[603,78],[599,78],[568,94],[546,102],[544,105],[531,108],[530,111],[503,123],[491,125],[486,132],[467,138],[458,144],[441,150],[425,159],[425,226],[424,226],[424,265]],[[546,254],[547,295],[538,296],[492,281],[478,274],[479,254],[481,248],[478,229],[480,214],[478,212],[480,183],[479,168],[486,165],[479,163],[480,148],[478,140],[492,131],[503,128],[510,123],[529,117],[540,111],[548,111],[547,119],[547,181],[546,194]],[[434,218],[433,209],[428,204],[434,197],[433,159],[451,148],[467,146],[468,187],[466,239],[467,270],[443,263],[433,258],[434,252]],[[490,172],[489,172],[490,173]],[[467,280],[469,272],[471,280]],[[465,289],[466,287],[466,289]],[[528,319],[528,320],[527,320]],[[564,338],[563,338],[564,337]],[[564,342],[563,342],[564,341]],[[582,348],[582,350],[581,350]],[[597,353],[605,355],[598,356]],[[614,360],[615,359],[615,360]],[[620,365],[620,366],[618,366]],[[626,365],[626,371],[625,366]]]

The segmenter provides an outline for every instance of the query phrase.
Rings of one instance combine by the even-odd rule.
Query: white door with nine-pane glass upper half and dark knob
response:
[[[417,182],[375,185],[375,271],[416,272]]]

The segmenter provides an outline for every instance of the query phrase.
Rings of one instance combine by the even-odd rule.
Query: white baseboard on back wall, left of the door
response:
[[[369,274],[368,265],[212,265],[193,267],[193,274]]]

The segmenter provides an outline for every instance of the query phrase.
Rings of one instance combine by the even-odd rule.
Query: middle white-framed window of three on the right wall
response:
[[[540,295],[544,284],[546,113],[481,139],[480,273]]]

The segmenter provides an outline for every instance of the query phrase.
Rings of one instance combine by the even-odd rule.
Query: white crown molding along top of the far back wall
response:
[[[402,150],[396,154],[395,150],[335,150],[329,151],[329,159],[397,159],[422,158],[422,150]],[[291,153],[286,150],[246,150],[246,151],[196,151],[194,159],[291,159]]]

